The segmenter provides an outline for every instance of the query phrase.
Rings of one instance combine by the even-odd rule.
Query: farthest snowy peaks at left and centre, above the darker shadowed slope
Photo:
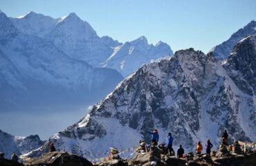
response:
[[[53,42],[69,57],[80,59],[93,67],[116,69],[124,77],[134,73],[142,64],[173,55],[167,44],[158,42],[154,46],[148,44],[145,37],[125,44],[108,36],[99,37],[89,23],[77,17],[75,13],[53,19],[30,12],[10,20],[20,32]]]

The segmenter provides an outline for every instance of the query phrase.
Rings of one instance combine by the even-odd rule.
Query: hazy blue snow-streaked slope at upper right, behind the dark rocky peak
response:
[[[234,46],[241,39],[244,39],[244,37],[247,37],[248,35],[254,34],[256,34],[256,21],[250,21],[250,23],[244,26],[244,28],[237,30],[236,33],[231,35],[231,37],[226,42],[223,42],[222,44],[212,48],[212,52],[214,56],[221,61],[227,59]]]

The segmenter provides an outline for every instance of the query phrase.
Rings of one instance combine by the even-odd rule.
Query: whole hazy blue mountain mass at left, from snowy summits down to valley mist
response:
[[[163,42],[141,44],[145,37],[125,44],[99,37],[75,13],[53,19],[35,12],[17,18],[0,12],[0,28],[1,111],[88,106],[144,63],[172,55]]]

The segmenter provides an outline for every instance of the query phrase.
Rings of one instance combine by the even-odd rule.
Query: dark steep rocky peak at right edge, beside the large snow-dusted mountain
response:
[[[224,68],[235,84],[248,95],[256,92],[256,35],[251,35],[235,46]]]

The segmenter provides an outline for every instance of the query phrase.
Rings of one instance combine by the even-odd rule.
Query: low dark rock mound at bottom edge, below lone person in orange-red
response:
[[[86,160],[86,158],[82,158],[80,156],[74,154],[68,154],[66,152],[49,152],[48,154],[44,154],[39,158],[27,158],[24,160],[25,165],[28,166],[43,166],[43,165],[51,165],[51,166],[92,166],[93,164]]]

